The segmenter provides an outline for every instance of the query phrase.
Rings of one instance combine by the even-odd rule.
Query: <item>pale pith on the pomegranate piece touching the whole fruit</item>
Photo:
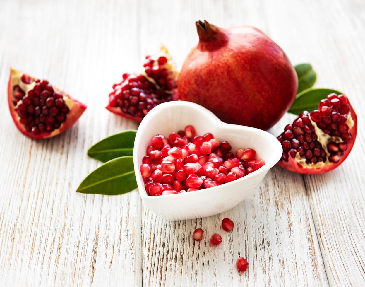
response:
[[[176,68],[176,64],[172,60],[168,49],[164,45],[161,45],[160,50],[156,54],[151,55],[149,57],[149,59],[155,61],[155,63],[153,64],[153,66],[158,65],[158,61],[157,60],[158,60],[159,57],[165,57],[167,59],[166,64],[160,65],[160,68],[161,69],[166,69],[168,71],[168,79],[171,79],[171,80],[173,80],[176,83],[177,76],[178,76],[178,71],[177,71],[177,68]],[[153,83],[157,87],[157,89],[161,89],[160,86],[158,85],[158,83],[156,83],[156,81],[153,78],[151,78],[150,76],[148,76],[146,74],[145,69],[143,69],[140,74],[143,75],[143,76],[145,76],[146,79],[149,82]],[[173,93],[173,91],[165,91],[165,90],[164,90],[164,92],[165,93],[169,93],[169,94],[172,94]]]

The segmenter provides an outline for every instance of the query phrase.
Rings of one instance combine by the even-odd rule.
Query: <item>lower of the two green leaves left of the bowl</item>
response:
[[[137,188],[133,157],[114,158],[90,173],[77,188],[77,192],[118,195]]]

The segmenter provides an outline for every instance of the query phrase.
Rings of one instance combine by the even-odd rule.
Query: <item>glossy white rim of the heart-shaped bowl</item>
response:
[[[254,133],[261,134],[262,137],[266,137],[270,141],[270,143],[271,143],[270,149],[272,150],[272,156],[269,158],[269,160],[268,161],[265,160],[265,164],[261,168],[257,169],[256,171],[249,173],[248,175],[243,176],[240,179],[230,181],[229,183],[224,183],[224,185],[221,184],[221,185],[217,185],[215,187],[210,187],[209,190],[207,190],[207,188],[205,188],[203,190],[197,190],[194,192],[184,192],[184,193],[179,194],[180,196],[194,196],[194,194],[201,194],[202,192],[216,191],[217,189],[222,188],[222,186],[223,186],[223,188],[229,188],[233,184],[238,184],[238,183],[242,184],[245,181],[250,180],[253,177],[260,175],[261,173],[267,173],[270,170],[270,168],[272,168],[274,165],[276,165],[277,162],[281,158],[281,155],[283,153],[283,148],[282,148],[280,142],[278,141],[278,139],[276,137],[274,137],[274,135],[268,133],[267,131],[260,130],[260,129],[257,129],[254,127],[249,127],[249,126],[241,126],[241,125],[224,123],[216,115],[214,115],[211,111],[209,111],[207,108],[200,106],[199,104],[196,104],[196,103],[178,100],[178,101],[171,101],[171,102],[159,104],[158,106],[154,107],[151,111],[149,111],[147,113],[147,115],[142,119],[142,122],[137,129],[137,133],[136,133],[136,137],[135,137],[135,141],[134,141],[134,148],[133,148],[134,170],[135,170],[136,174],[137,174],[137,172],[139,172],[139,167],[140,167],[140,163],[137,162],[137,150],[138,150],[138,147],[140,146],[141,139],[143,138],[142,131],[144,131],[146,129],[146,127],[148,127],[149,120],[151,118],[153,118],[154,116],[158,116],[158,114],[160,114],[160,112],[162,110],[165,110],[167,108],[169,108],[169,109],[176,108],[176,107],[199,109],[199,110],[201,110],[202,113],[205,114],[204,118],[210,117],[212,120],[214,120],[217,123],[217,126],[219,126],[220,128],[223,128],[223,129],[231,129],[231,130],[241,129],[241,130],[246,130],[246,131],[251,131]],[[162,198],[161,198],[161,196],[147,195],[145,188],[144,188],[144,185],[145,185],[144,182],[143,183],[139,182],[140,180],[137,176],[136,176],[136,180],[137,180],[137,185],[139,185],[139,184],[143,185],[142,191],[141,191],[142,188],[138,187],[139,195],[141,196],[142,199],[161,200],[163,198],[166,198],[166,196],[175,195],[175,194],[164,195]]]

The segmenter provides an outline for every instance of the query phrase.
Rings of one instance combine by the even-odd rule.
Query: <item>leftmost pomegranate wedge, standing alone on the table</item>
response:
[[[30,138],[50,138],[69,129],[86,106],[52,87],[46,80],[10,69],[10,114],[18,129]]]

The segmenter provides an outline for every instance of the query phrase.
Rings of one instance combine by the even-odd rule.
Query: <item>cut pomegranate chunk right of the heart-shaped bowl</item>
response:
[[[318,110],[304,111],[277,137],[283,146],[278,164],[289,171],[318,174],[333,170],[349,155],[357,134],[357,115],[345,95],[332,93]]]

